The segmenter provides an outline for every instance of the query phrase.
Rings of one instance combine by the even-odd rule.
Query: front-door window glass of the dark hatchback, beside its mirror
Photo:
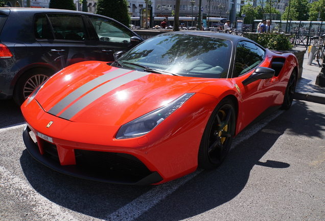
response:
[[[100,41],[130,43],[132,32],[113,20],[89,16]]]

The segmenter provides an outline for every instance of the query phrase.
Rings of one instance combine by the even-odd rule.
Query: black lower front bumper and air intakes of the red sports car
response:
[[[75,153],[76,165],[62,166],[56,159],[55,145],[48,143],[48,151],[41,154],[37,143],[33,141],[29,134],[30,131],[31,129],[29,126],[26,125],[22,137],[27,150],[37,161],[58,172],[78,178],[114,184],[149,185],[159,183],[163,180],[157,171],[150,172],[147,168],[144,168],[146,166],[140,160],[129,154],[77,150]],[[96,160],[93,158],[95,155],[97,156]],[[97,163],[98,156],[100,156],[102,161],[105,161],[104,164],[99,165]],[[105,159],[106,157],[107,159]],[[96,165],[92,164],[92,161],[94,161]],[[109,163],[107,164],[108,161]],[[102,167],[103,165],[106,166]],[[142,172],[137,172],[135,175],[131,174],[134,165],[137,165]],[[115,167],[119,169],[114,170],[113,168]]]

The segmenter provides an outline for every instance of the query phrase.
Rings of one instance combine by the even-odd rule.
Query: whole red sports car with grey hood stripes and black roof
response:
[[[241,130],[293,100],[296,57],[244,37],[172,32],[123,53],[64,68],[22,104],[36,160],[80,178],[161,184],[216,168]]]

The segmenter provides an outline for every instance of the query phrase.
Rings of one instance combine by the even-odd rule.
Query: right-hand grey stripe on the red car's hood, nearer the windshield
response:
[[[119,86],[122,86],[123,84],[126,84],[128,82],[131,82],[133,80],[136,80],[138,78],[144,77],[149,74],[150,73],[134,71],[129,74],[123,75],[119,78],[116,78],[114,80],[111,80],[97,87],[97,89],[91,91],[89,94],[86,94],[84,97],[80,98],[78,101],[76,101],[76,103],[69,106],[59,117],[66,120],[70,120],[83,108],[85,108],[86,106],[88,106],[90,103],[94,102],[101,96],[107,94],[108,92],[114,89],[117,89]]]

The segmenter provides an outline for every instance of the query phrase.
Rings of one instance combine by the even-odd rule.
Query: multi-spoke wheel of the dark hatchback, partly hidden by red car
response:
[[[33,91],[53,73],[46,69],[32,69],[20,76],[16,82],[13,99],[20,106]]]

